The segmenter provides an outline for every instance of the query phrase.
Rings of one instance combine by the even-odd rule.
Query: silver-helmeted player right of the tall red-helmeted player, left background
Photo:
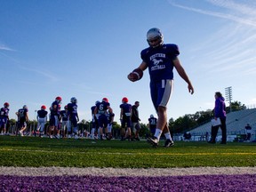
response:
[[[70,99],[70,103],[68,103],[68,113],[70,116],[70,123],[72,127],[73,132],[68,132],[68,134],[73,134],[75,139],[78,139],[78,128],[77,128],[77,122],[79,122],[79,117],[77,113],[77,100],[76,97],[72,97]]]

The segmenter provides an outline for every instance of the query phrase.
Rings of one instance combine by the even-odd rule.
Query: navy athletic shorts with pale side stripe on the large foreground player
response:
[[[161,82],[150,82],[150,94],[154,107],[165,107],[172,95],[172,79],[163,79]]]

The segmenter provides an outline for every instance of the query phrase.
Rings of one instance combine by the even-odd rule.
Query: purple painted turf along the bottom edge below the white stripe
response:
[[[0,176],[0,191],[256,191],[256,174],[172,177]]]

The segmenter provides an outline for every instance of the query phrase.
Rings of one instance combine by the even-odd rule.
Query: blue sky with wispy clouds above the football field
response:
[[[256,2],[254,0],[0,0],[0,104],[10,117],[28,105],[29,119],[56,96],[62,107],[78,100],[80,119],[107,97],[118,121],[122,98],[140,101],[148,123],[155,109],[148,71],[136,83],[127,74],[140,65],[149,28],[178,44],[180,61],[195,88],[174,73],[168,119],[213,108],[214,92],[256,104]]]

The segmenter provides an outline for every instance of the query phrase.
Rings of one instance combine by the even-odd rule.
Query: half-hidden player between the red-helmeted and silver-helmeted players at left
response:
[[[70,121],[69,121],[69,112],[68,105],[64,107],[64,110],[60,110],[60,121],[61,121],[61,129],[60,134],[62,138],[66,138],[67,132],[71,132],[70,130]],[[70,138],[71,135],[68,136]]]

